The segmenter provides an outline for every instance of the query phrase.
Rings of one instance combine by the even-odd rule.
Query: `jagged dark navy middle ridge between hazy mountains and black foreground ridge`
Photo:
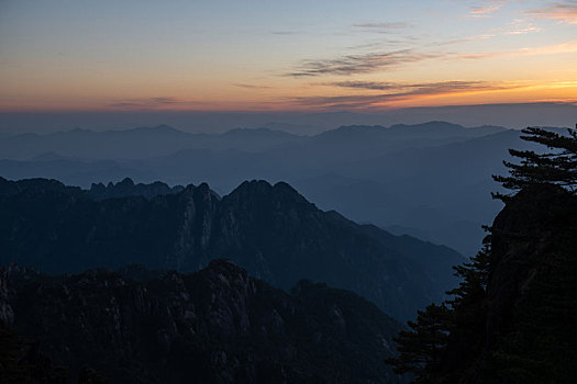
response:
[[[88,268],[197,271],[228,258],[282,289],[309,279],[352,290],[401,320],[455,285],[456,251],[320,211],[287,183],[122,183],[89,191],[0,179],[0,263],[49,273]]]

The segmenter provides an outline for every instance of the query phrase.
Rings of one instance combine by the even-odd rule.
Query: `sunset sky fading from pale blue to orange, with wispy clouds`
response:
[[[577,102],[577,1],[0,1],[0,111]]]

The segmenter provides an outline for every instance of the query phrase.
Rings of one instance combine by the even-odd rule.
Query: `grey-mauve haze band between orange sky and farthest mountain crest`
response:
[[[420,106],[382,112],[198,112],[198,111],[99,111],[99,112],[0,112],[0,132],[48,133],[84,128],[102,131],[168,124],[192,133],[224,133],[237,127],[268,127],[292,134],[315,135],[341,125],[420,124],[452,121],[465,126],[479,124],[523,128],[529,125],[574,126],[577,105],[562,102]]]

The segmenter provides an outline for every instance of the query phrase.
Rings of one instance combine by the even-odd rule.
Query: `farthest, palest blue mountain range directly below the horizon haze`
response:
[[[298,136],[270,128],[236,128],[223,134],[190,134],[167,125],[138,127],[126,131],[73,129],[52,134],[20,134],[3,137],[0,154],[4,159],[30,160],[45,154],[57,154],[75,159],[146,159],[170,155],[182,149],[213,151],[263,151],[278,146],[295,150],[336,149],[335,147],[365,147],[368,151],[390,147],[419,147],[446,144],[504,131],[485,126],[464,128],[461,125],[431,122],[418,125],[342,126],[314,136]],[[370,148],[366,148],[370,145]],[[321,155],[321,154],[319,154]],[[322,154],[326,156],[326,154]]]

